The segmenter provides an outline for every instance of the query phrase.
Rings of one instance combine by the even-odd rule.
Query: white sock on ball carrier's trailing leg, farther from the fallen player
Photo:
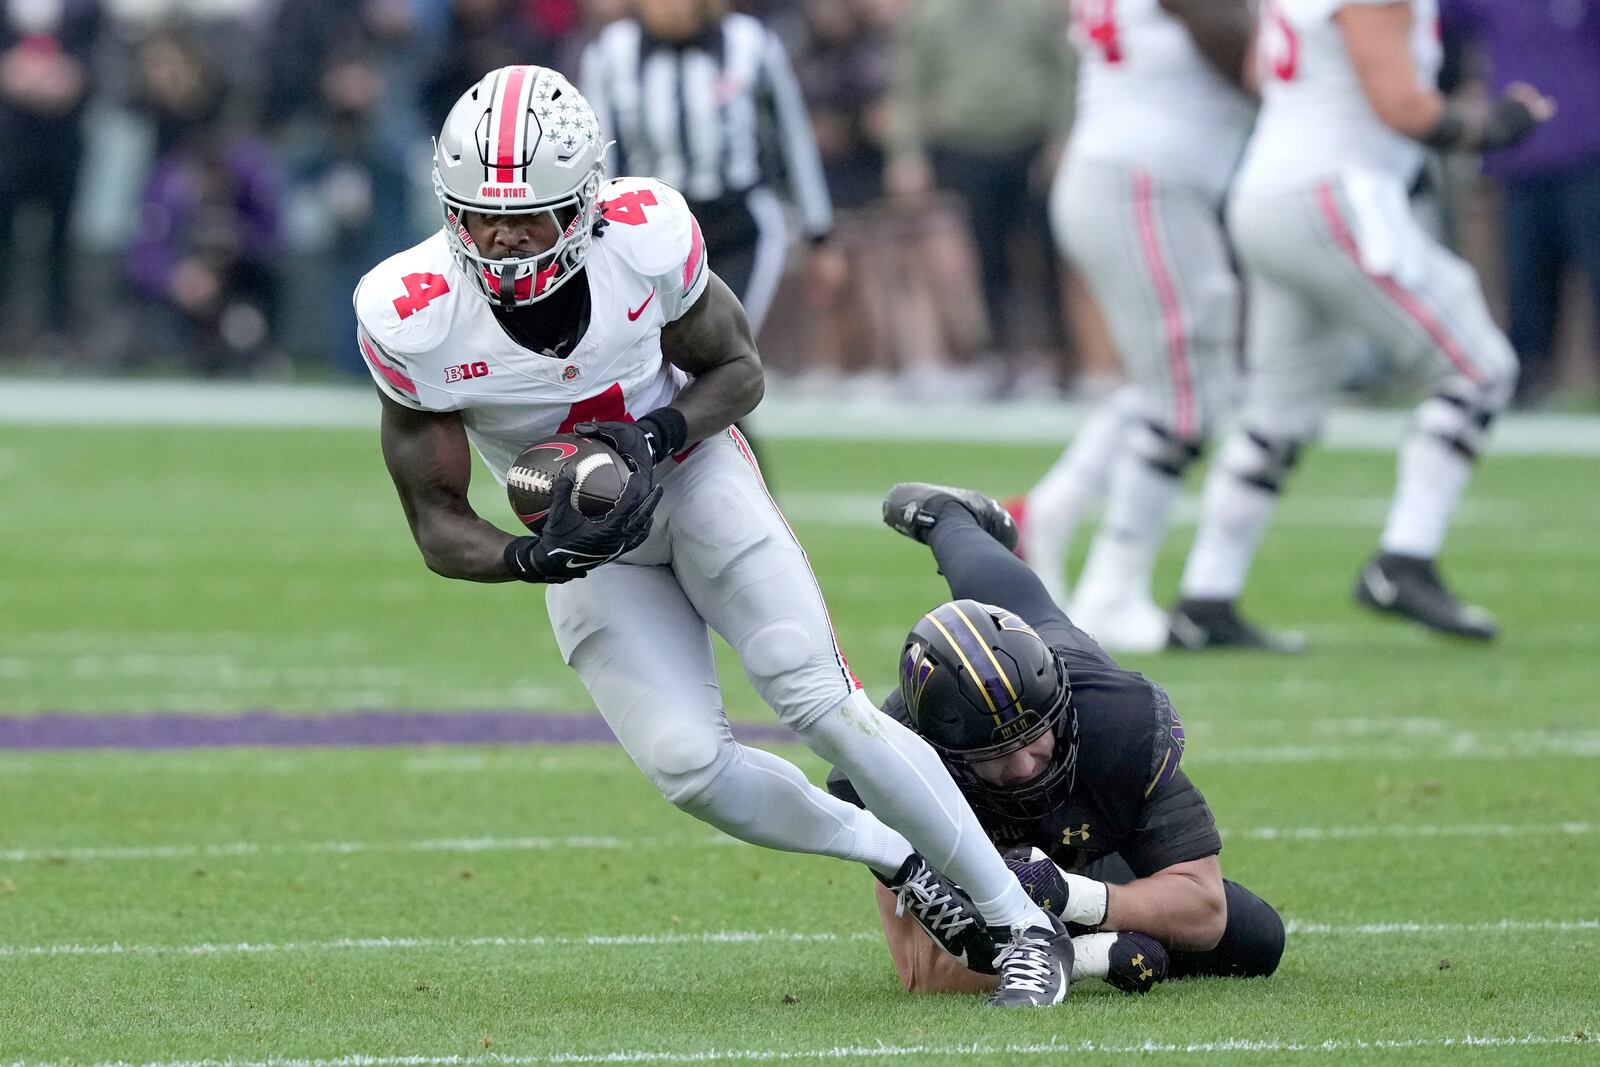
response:
[[[794,763],[747,745],[736,745],[685,811],[750,845],[851,859],[885,875],[910,856],[910,843],[870,811],[818,789]]]

